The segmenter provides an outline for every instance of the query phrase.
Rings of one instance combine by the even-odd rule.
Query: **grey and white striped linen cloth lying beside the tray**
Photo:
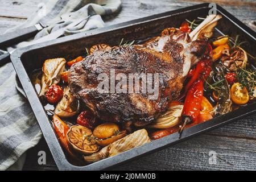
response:
[[[52,24],[31,39],[29,41],[31,43],[59,28],[68,26],[77,19],[84,18],[75,27],[66,28],[64,31],[64,35],[76,34],[104,27],[101,15],[115,13],[120,8],[120,0],[49,0],[45,4],[40,3],[39,9],[25,23],[8,31],[29,27],[39,21]],[[60,20],[61,23],[54,24]],[[28,42],[22,42],[7,50],[12,51],[27,44]],[[16,77],[13,65],[7,63],[0,67],[0,75],[0,170],[22,169],[26,151],[39,142],[42,133]]]

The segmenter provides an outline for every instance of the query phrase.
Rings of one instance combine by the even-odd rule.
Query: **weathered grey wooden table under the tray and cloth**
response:
[[[2,0],[0,31],[23,23],[42,0]],[[117,15],[105,17],[106,26],[152,14],[163,13],[185,6],[210,1],[122,0]],[[254,0],[215,0],[247,26],[256,31],[256,2]],[[47,164],[38,164],[38,151],[46,151]],[[209,152],[216,152],[216,163],[209,163]],[[28,150],[24,170],[56,170],[56,164],[44,139]],[[256,169],[256,115],[230,123],[173,147],[144,156],[115,167],[117,170],[171,169]]]

